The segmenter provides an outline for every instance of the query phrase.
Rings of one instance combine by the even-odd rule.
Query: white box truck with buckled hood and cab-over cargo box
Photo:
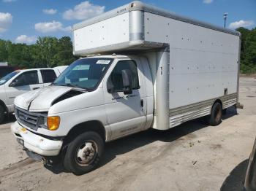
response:
[[[105,142],[203,116],[218,125],[238,104],[237,31],[133,1],[76,24],[73,36],[85,58],[15,99],[12,132],[74,174],[97,166]]]

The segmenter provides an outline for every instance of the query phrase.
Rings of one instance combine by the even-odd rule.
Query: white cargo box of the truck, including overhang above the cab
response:
[[[154,128],[167,129],[238,103],[241,36],[134,1],[73,28],[74,54],[122,53],[148,59]]]

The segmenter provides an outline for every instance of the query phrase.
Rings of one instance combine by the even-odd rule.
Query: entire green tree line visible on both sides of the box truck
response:
[[[237,28],[241,39],[241,72],[256,72],[256,28]],[[0,62],[8,62],[21,69],[69,65],[77,58],[72,54],[69,36],[57,39],[39,37],[36,44],[15,44],[0,39]]]

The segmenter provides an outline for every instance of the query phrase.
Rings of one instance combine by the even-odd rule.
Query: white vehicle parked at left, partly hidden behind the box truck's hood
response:
[[[14,112],[13,101],[23,93],[50,85],[67,66],[53,69],[16,70],[0,79],[0,124]]]

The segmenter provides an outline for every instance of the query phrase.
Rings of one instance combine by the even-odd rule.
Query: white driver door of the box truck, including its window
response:
[[[116,64],[115,64],[116,63]],[[105,78],[105,108],[111,128],[111,139],[118,139],[143,129],[146,124],[146,88],[140,59],[121,59],[113,63],[111,73]],[[121,71],[132,71],[132,93],[124,94]],[[108,90],[108,80],[114,92]]]

